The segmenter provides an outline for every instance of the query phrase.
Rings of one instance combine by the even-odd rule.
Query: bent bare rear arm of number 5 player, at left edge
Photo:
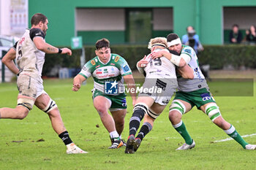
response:
[[[14,74],[18,74],[19,69],[15,66],[14,60],[16,56],[16,51],[14,48],[10,48],[6,55],[2,58],[2,62],[12,71]]]

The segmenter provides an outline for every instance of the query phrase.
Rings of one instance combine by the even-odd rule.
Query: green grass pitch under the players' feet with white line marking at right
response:
[[[45,80],[45,90],[58,104],[70,137],[89,154],[67,155],[48,115],[34,107],[24,120],[0,120],[0,169],[256,169],[256,150],[244,150],[234,140],[216,142],[229,136],[195,108],[184,115],[183,121],[196,146],[192,150],[176,151],[184,140],[167,118],[170,104],[135,154],[124,154],[124,147],[109,150],[108,131],[92,104],[92,87],[90,79],[80,91],[72,92],[72,80]],[[15,107],[17,94],[15,83],[0,84],[0,107]],[[239,134],[250,135],[244,138],[246,142],[256,144],[255,93],[215,99],[222,116]],[[132,116],[129,96],[127,104],[122,134],[125,140]]]

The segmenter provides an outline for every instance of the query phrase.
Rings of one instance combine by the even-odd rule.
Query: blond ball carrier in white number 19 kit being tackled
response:
[[[140,92],[132,117],[129,120],[129,137],[125,153],[134,153],[138,150],[140,142],[151,131],[154,120],[165,109],[177,88],[174,64],[163,56],[152,58],[153,53],[169,53],[166,39],[163,37],[151,39],[148,43],[148,49],[151,50],[151,53],[140,60],[137,63],[137,67],[139,72],[146,77],[142,88],[152,89],[157,87],[157,90]],[[140,128],[138,136],[135,137],[143,117],[144,123]]]

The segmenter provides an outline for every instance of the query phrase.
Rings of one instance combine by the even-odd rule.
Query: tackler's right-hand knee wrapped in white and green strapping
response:
[[[219,122],[220,119],[217,120],[217,117],[222,116],[219,111],[219,107],[216,103],[211,103],[206,106],[205,110],[206,115],[211,119],[215,124]],[[216,120],[216,121],[215,121]]]

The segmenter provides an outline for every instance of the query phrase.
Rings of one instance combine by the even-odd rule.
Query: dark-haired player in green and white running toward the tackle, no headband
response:
[[[93,102],[103,125],[110,133],[110,149],[121,147],[121,133],[124,130],[124,117],[127,113],[124,81],[128,89],[135,89],[135,81],[127,61],[120,55],[110,53],[108,39],[99,39],[96,43],[96,57],[88,61],[74,78],[72,90],[77,91],[83,81],[94,78]],[[136,93],[132,93],[132,104],[135,104]],[[112,117],[108,114],[108,109]]]

